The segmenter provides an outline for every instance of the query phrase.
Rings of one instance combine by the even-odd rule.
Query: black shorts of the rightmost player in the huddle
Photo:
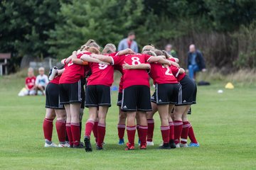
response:
[[[178,103],[176,106],[195,104],[196,83],[186,75],[179,84],[181,84],[181,91],[178,92]]]

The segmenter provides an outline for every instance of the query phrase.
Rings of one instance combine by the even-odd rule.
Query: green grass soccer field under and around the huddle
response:
[[[158,150],[159,116],[155,115],[155,147],[124,151],[117,145],[117,93],[107,115],[105,149],[44,148],[43,96],[18,97],[23,78],[0,77],[0,169],[256,169],[256,87],[225,83],[198,87],[198,104],[189,116],[199,148]],[[83,126],[87,119],[85,109]],[[82,130],[84,132],[84,130]],[[58,143],[55,128],[53,142]],[[126,138],[125,138],[126,139]]]

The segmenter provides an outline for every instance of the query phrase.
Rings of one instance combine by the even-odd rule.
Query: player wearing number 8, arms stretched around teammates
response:
[[[97,57],[104,62],[110,62],[115,65],[137,65],[146,62],[159,62],[161,64],[170,64],[168,60],[162,57],[151,57],[144,54],[129,54],[109,57]],[[151,111],[149,75],[146,69],[124,69],[124,90],[122,96],[122,111],[127,112],[127,150],[134,149],[134,137],[136,132],[135,118],[139,115],[139,137],[141,140],[141,149],[146,149],[147,121],[146,111]]]

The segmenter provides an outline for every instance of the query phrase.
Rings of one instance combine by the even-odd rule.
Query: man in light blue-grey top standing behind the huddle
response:
[[[136,53],[139,52],[137,42],[135,41],[135,33],[134,32],[130,32],[128,34],[127,38],[124,38],[123,40],[121,40],[119,42],[117,50],[121,51],[121,50],[125,50],[127,48],[131,48]]]

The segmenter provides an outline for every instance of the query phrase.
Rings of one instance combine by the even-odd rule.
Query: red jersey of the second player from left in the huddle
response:
[[[90,55],[90,52],[80,52],[77,57],[80,59],[82,55]],[[64,61],[65,62],[65,61]],[[85,77],[85,66],[74,64],[70,61],[68,64],[65,64],[65,70],[60,77],[59,84],[73,84],[78,82],[82,77]]]

